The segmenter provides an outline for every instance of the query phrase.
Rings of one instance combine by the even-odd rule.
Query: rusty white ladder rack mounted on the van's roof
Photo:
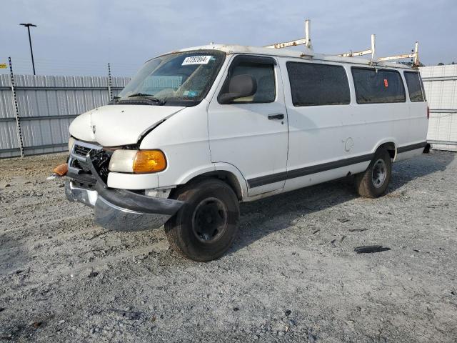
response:
[[[297,45],[305,45],[307,49],[313,50],[313,46],[311,45],[311,20],[306,19],[305,21],[305,38],[296,39],[295,41],[286,41],[283,43],[276,43],[265,46],[266,48],[274,48],[274,49],[281,49],[287,48],[288,46],[297,46]],[[386,56],[386,57],[376,57],[376,36],[374,34],[371,35],[371,48],[362,50],[362,51],[350,51],[344,54],[338,54],[337,56],[343,57],[353,57],[353,56],[364,56],[371,54],[371,63],[378,64],[378,62],[382,61],[396,61],[398,59],[413,59],[413,68],[417,68],[420,65],[419,62],[419,43],[416,41],[414,44],[414,49],[411,50],[410,54],[401,54],[395,56]],[[305,54],[311,56],[311,54]]]

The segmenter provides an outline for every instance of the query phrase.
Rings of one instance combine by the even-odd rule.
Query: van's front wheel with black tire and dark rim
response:
[[[201,179],[176,189],[173,198],[186,204],[165,223],[171,248],[197,262],[221,257],[238,232],[239,203],[233,189],[219,179]]]

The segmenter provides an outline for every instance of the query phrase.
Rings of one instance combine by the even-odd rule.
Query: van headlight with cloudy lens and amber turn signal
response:
[[[115,150],[109,161],[111,172],[155,173],[166,169],[166,158],[160,150]]]

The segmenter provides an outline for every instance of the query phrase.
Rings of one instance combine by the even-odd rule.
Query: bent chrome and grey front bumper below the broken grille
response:
[[[125,189],[79,187],[67,179],[66,198],[94,208],[96,224],[114,231],[156,229],[165,224],[184,204],[179,200],[146,197]]]

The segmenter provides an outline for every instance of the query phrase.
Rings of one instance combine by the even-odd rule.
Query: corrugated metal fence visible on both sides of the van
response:
[[[434,149],[457,150],[457,65],[426,66],[421,76],[431,109],[427,139]],[[113,95],[129,81],[111,78]],[[71,120],[109,101],[103,76],[14,75],[24,155],[66,151]],[[21,156],[11,77],[0,75],[0,158]]]

